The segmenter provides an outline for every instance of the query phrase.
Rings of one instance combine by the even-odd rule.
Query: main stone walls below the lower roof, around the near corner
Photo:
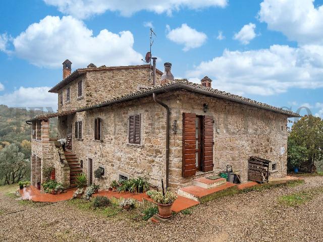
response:
[[[182,177],[183,112],[214,117],[213,173],[233,165],[242,181],[247,180],[248,158],[260,156],[277,163],[278,169],[271,177],[286,175],[287,169],[287,116],[232,101],[205,97],[185,91],[158,95],[171,108],[170,124],[177,120],[177,134],[170,134],[170,187],[177,189],[192,185],[193,177]],[[192,101],[193,100],[193,101]],[[203,111],[203,104],[208,111]],[[128,144],[128,116],[141,113],[141,145]],[[102,119],[102,141],[94,141],[94,118]],[[59,119],[61,120],[61,119]],[[142,98],[110,107],[69,115],[73,126],[73,152],[83,160],[83,170],[88,172],[88,159],[93,160],[93,170],[105,168],[103,179],[95,181],[108,186],[119,175],[145,176],[155,186],[165,179],[166,160],[166,110],[152,97]],[[74,136],[74,123],[82,120],[83,139]],[[59,127],[63,127],[60,126]],[[59,133],[64,130],[59,129]],[[210,175],[201,174],[202,176]]]

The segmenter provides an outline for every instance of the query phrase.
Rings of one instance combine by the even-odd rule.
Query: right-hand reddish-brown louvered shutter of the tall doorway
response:
[[[201,154],[201,166],[202,171],[213,170],[213,117],[203,116],[202,120],[202,154]]]

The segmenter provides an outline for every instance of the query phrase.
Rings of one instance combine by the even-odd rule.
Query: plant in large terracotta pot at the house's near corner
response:
[[[151,199],[158,205],[158,215],[161,218],[170,218],[172,216],[172,206],[177,196],[175,193],[166,192],[165,196],[163,193],[156,192],[151,195]]]

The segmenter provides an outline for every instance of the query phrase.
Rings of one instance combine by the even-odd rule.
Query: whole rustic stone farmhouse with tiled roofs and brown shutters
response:
[[[75,175],[89,184],[145,176],[151,185],[177,190],[193,179],[216,175],[227,165],[248,180],[250,156],[272,161],[270,178],[287,173],[287,121],[297,113],[211,88],[174,80],[150,65],[96,67],[71,72],[49,92],[58,94],[58,112],[38,115],[32,125],[32,185],[55,167],[56,179],[73,186]],[[217,87],[217,83],[212,84]],[[49,137],[50,118],[58,117],[58,137]],[[64,152],[58,139],[66,139]],[[93,171],[100,167],[102,177]]]

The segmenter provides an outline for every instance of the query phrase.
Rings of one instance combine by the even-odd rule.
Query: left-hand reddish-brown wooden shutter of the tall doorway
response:
[[[183,165],[184,177],[193,176],[196,173],[196,114],[183,113]]]

